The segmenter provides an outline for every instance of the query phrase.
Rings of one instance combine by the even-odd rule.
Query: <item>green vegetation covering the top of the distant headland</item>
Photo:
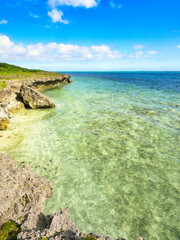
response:
[[[60,77],[62,73],[47,72],[38,69],[27,69],[18,66],[10,65],[7,63],[0,63],[0,80],[11,80],[11,79],[23,79],[33,77]]]

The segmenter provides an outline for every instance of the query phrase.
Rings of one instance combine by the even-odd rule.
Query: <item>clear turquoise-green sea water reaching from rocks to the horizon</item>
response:
[[[179,239],[180,73],[72,75],[45,92],[56,109],[14,119],[9,154],[53,182],[44,212],[70,205],[86,232]]]

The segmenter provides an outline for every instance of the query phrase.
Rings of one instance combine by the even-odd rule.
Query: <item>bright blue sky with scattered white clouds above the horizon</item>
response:
[[[0,0],[0,62],[180,71],[180,0]]]

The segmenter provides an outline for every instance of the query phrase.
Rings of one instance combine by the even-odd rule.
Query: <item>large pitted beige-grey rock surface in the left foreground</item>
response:
[[[27,214],[42,212],[42,205],[52,197],[51,184],[35,175],[29,167],[0,153],[0,226],[8,220],[18,222]]]

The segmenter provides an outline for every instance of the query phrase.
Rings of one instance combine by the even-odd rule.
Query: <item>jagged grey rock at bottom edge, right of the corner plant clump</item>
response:
[[[70,208],[60,209],[53,215],[29,214],[21,225],[19,240],[47,238],[55,239],[82,239],[86,234],[76,228],[70,217]]]

